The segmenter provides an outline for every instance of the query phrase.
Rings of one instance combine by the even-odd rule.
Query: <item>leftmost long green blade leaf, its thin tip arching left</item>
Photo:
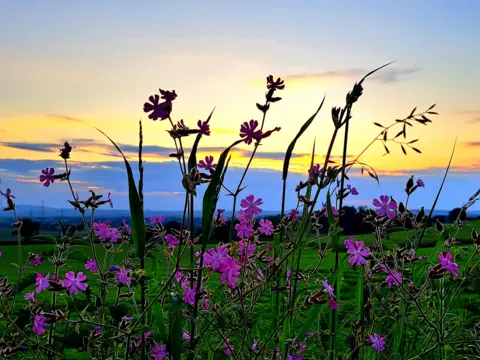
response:
[[[140,196],[138,195],[137,185],[135,184],[135,179],[133,177],[132,168],[123,154],[122,150],[115,144],[115,142],[110,139],[110,137],[105,134],[102,130],[97,129],[100,131],[105,137],[110,140],[113,146],[118,150],[120,155],[122,155],[123,160],[125,162],[125,168],[127,169],[127,176],[128,176],[128,200],[130,204],[130,217],[132,218],[132,238],[133,244],[135,246],[135,250],[137,253],[138,258],[143,258],[145,256],[145,223],[144,223],[144,215],[143,215],[143,207],[142,201],[140,200]]]

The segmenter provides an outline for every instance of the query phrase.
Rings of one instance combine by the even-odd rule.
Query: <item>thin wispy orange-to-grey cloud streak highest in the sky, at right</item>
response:
[[[290,74],[284,76],[288,81],[323,81],[361,78],[368,74],[370,70],[361,68],[352,68],[338,71],[326,71],[322,73]],[[404,80],[404,77],[421,71],[420,68],[385,68],[375,73],[370,78],[382,84],[389,84]]]

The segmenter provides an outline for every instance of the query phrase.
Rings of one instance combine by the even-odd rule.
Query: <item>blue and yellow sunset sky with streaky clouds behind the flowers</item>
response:
[[[405,156],[391,144],[391,154],[382,156],[380,142],[370,147],[361,160],[377,170],[380,184],[352,172],[350,183],[360,194],[346,204],[370,206],[382,194],[405,200],[405,183],[414,175],[426,186],[410,204],[430,208],[456,141],[437,208],[461,206],[480,187],[478,13],[478,2],[441,0],[7,2],[0,13],[0,188],[11,188],[18,204],[68,206],[66,184],[45,188],[38,177],[45,167],[61,171],[58,148],[69,141],[80,197],[89,189],[111,192],[115,206],[127,208],[123,163],[95,127],[136,166],[141,119],[145,206],[181,209],[181,176],[168,157],[174,147],[169,124],[148,119],[143,104],[159,88],[175,89],[172,118],[190,127],[215,108],[212,135],[202,139],[199,157],[218,158],[238,139],[242,122],[261,119],[255,103],[263,103],[272,74],[286,87],[265,127],[281,130],[259,148],[244,190],[262,197],[265,209],[280,208],[285,151],[326,96],[295,148],[287,198],[294,207],[294,188],[305,180],[314,141],[315,160],[323,163],[331,108],[344,105],[355,81],[395,60],[364,83],[353,108],[350,158],[377,136],[373,122],[390,125],[434,103],[439,115],[407,133],[407,140],[419,139],[422,154]],[[192,142],[185,139],[187,150]],[[252,149],[235,148],[227,185],[238,183]],[[339,142],[337,160],[341,150]],[[220,206],[231,206],[231,198],[222,196]]]

